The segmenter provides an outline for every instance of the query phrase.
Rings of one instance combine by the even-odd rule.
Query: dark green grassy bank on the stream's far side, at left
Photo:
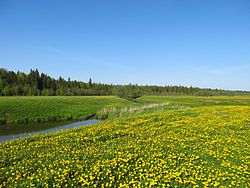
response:
[[[84,120],[104,107],[128,105],[134,102],[114,96],[0,97],[0,124]]]

